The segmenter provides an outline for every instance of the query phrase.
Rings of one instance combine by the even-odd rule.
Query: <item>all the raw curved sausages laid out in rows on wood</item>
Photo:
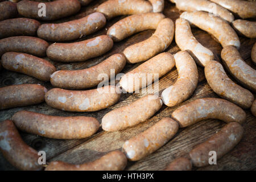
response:
[[[166,170],[191,170],[192,166],[208,165],[209,151],[216,151],[217,159],[232,150],[243,135],[246,121],[243,109],[251,109],[256,116],[256,71],[242,60],[238,34],[256,38],[256,22],[243,20],[256,18],[255,1],[227,0],[170,0],[184,11],[174,22],[161,13],[163,0],[108,0],[97,7],[95,13],[64,23],[44,23],[38,20],[56,20],[79,12],[90,0],[57,0],[46,2],[46,16],[38,15],[40,2],[23,0],[18,3],[0,3],[0,56],[2,67],[51,81],[56,88],[47,90],[39,84],[11,85],[0,88],[0,109],[39,104],[64,111],[90,112],[105,109],[118,102],[122,90],[133,93],[145,87],[140,74],[157,73],[162,77],[174,66],[179,77],[175,84],[164,89],[161,97],[148,94],[129,105],[113,109],[102,118],[101,125],[92,117],[59,117],[32,111],[18,111],[10,120],[0,123],[0,150],[13,166],[23,170],[38,170],[37,152],[23,142],[18,130],[55,139],[90,137],[99,127],[105,131],[119,131],[133,127],[151,118],[162,105],[176,106],[187,100],[195,91],[199,74],[197,65],[204,67],[210,88],[221,98],[200,98],[178,107],[170,118],[162,118],[154,126],[123,143],[122,151],[112,151],[94,162],[68,164],[51,162],[46,170],[122,170],[127,159],[140,160],[166,144],[179,127],[187,127],[204,119],[220,119],[227,124],[204,143],[189,152],[190,159],[175,159]],[[212,6],[214,6],[214,11]],[[231,13],[232,12],[232,13]],[[16,14],[24,18],[14,18]],[[234,20],[234,15],[242,19]],[[107,35],[75,43],[77,40],[103,28],[106,20],[129,15],[114,23]],[[37,19],[37,20],[35,20]],[[191,25],[211,34],[223,47],[222,64],[214,61],[213,52],[202,46],[193,36]],[[77,71],[56,71],[49,61],[77,62],[103,55],[112,49],[114,42],[148,29],[154,34],[143,42],[133,44],[122,53],[114,54],[100,64]],[[175,55],[163,52],[174,39],[181,51]],[[35,36],[38,37],[35,37]],[[49,45],[48,42],[54,42]],[[64,42],[64,43],[63,43]],[[256,64],[256,46],[251,51]],[[98,75],[110,77],[111,69],[120,73],[126,63],[144,61],[126,73],[119,86],[109,85],[98,89]],[[1,68],[1,67],[0,67]],[[151,76],[147,80],[155,81]],[[130,80],[138,80],[135,85]],[[147,85],[147,84],[146,84]],[[121,91],[121,92],[120,92]]]

